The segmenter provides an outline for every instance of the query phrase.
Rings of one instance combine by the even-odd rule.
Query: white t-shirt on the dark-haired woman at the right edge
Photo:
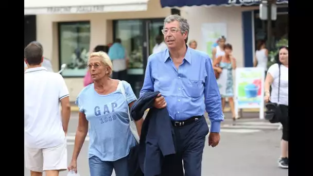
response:
[[[279,71],[278,64],[273,64],[267,71],[274,78],[271,102],[288,105],[288,67],[281,65],[280,100],[278,102]]]

